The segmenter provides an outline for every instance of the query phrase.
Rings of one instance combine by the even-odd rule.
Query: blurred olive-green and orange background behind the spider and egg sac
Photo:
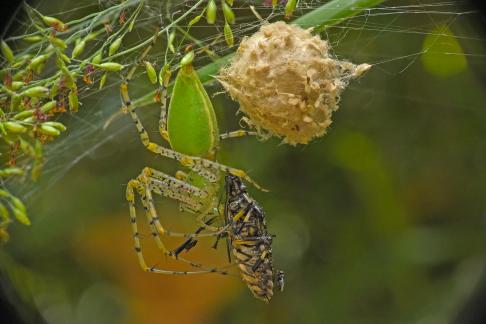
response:
[[[374,64],[344,93],[327,136],[305,147],[252,138],[222,146],[223,162],[271,189],[252,190],[277,235],[274,262],[286,271],[285,291],[269,305],[236,277],[138,269],[125,184],[144,166],[169,173],[176,165],[146,152],[126,116],[97,127],[117,109],[116,86],[86,98],[66,121],[78,129],[66,135],[69,149],[55,147],[48,176],[26,188],[35,216],[29,228],[11,227],[2,278],[51,323],[453,322],[485,274],[485,38],[477,16],[455,14],[462,8],[434,7],[449,12],[440,15],[418,5],[425,13],[416,14],[409,5],[386,2],[394,14],[371,10],[323,34],[338,57]],[[452,41],[421,56],[443,24]],[[459,49],[468,55],[447,54]],[[439,63],[461,69],[434,73]],[[138,81],[132,89],[142,95]],[[221,131],[237,128],[237,105],[221,94],[213,103]],[[156,136],[152,108],[145,124]],[[196,227],[172,202],[159,199],[158,209],[173,230]],[[211,243],[194,258],[224,264]],[[176,266],[150,253],[154,264]],[[22,313],[29,321],[28,308]]]

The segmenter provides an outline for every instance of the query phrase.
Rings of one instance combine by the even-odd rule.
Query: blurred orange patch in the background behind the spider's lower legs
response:
[[[180,214],[169,219],[176,219],[176,216],[180,217]],[[164,260],[144,224],[145,219],[139,217],[142,251],[149,266],[166,270],[195,270],[181,262]],[[163,241],[173,249],[183,240],[164,238]],[[135,256],[128,212],[93,224],[77,242],[75,252],[81,263],[92,271],[106,273],[126,292],[124,297],[133,316],[128,323],[160,323],[162,320],[164,323],[210,323],[239,289],[244,288],[239,276],[172,276],[143,272]],[[210,248],[213,242],[213,238],[200,239],[194,251],[184,257],[209,267],[227,265],[226,252],[222,248],[224,242],[220,242],[220,251]],[[230,270],[236,273],[237,269]]]

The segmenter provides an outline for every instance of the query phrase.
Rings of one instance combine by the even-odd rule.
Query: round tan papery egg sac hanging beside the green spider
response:
[[[311,29],[279,21],[240,44],[218,80],[260,133],[307,144],[323,136],[348,81],[371,66],[338,61]]]

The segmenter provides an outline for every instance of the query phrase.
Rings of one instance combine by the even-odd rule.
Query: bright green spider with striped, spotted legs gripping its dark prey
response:
[[[139,62],[150,51],[152,43],[142,54]],[[230,174],[242,178],[255,187],[262,189],[244,171],[219,164],[215,160],[219,141],[226,138],[256,135],[254,132],[237,130],[219,134],[216,115],[199,77],[192,66],[194,53],[191,51],[181,60],[180,68],[173,85],[173,91],[166,111],[166,95],[168,79],[161,82],[161,115],[159,131],[171,148],[160,146],[149,139],[149,135],[142,126],[140,118],[135,112],[128,94],[128,82],[132,78],[137,64],[128,72],[121,83],[120,94],[123,111],[127,112],[135,123],[143,145],[151,152],[178,161],[188,172],[178,171],[175,177],[164,172],[145,167],[142,172],[128,182],[126,199],[129,204],[130,219],[138,261],[144,271],[160,274],[192,275],[204,273],[228,274],[226,270],[204,267],[179,256],[176,251],[169,250],[162,242],[161,236],[173,237],[217,237],[224,235],[228,225],[211,226],[212,220],[219,217],[223,206],[220,205],[220,193],[224,191],[223,177]],[[159,221],[154,207],[153,194],[172,198],[180,203],[181,210],[197,214],[197,221],[206,233],[176,233],[165,229]],[[185,262],[196,271],[172,271],[147,266],[141,250],[137,216],[135,209],[136,194],[140,197],[151,234],[157,247],[170,258]],[[209,219],[210,221],[208,221]]]

